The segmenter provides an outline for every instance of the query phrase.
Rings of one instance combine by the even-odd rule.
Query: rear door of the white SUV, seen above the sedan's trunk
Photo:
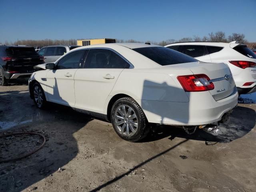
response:
[[[211,58],[204,45],[182,45],[179,47],[179,52],[194,57],[199,61],[211,62]]]

